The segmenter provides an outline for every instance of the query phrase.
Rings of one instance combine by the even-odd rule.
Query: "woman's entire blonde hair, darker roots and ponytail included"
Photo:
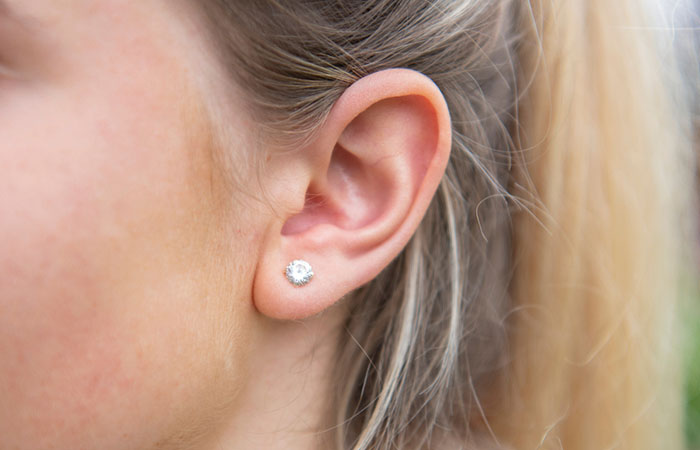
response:
[[[431,77],[450,108],[424,221],[347,299],[337,448],[682,447],[690,115],[647,6],[201,2],[265,137],[310,136],[390,67]]]

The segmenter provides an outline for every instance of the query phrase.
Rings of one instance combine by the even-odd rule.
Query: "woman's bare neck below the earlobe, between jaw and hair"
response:
[[[304,321],[261,319],[248,382],[217,449],[330,447],[330,374],[344,317],[337,307]]]

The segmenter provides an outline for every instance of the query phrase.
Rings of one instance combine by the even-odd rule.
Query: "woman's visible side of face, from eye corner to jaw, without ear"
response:
[[[183,30],[155,1],[8,5],[0,448],[186,441],[240,388],[252,268],[231,255],[258,224],[221,215]]]

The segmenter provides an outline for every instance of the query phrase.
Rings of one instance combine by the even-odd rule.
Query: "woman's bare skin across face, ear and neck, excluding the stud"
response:
[[[222,92],[191,70],[216,64],[182,40],[184,11],[7,4],[0,448],[326,445],[338,300],[398,254],[434,194],[449,153],[437,88],[408,71],[351,87],[303,152],[269,161],[270,208],[217,163],[207,112]],[[255,134],[227,98],[226,150],[246,167]],[[305,208],[309,186],[327,210]],[[281,276],[297,255],[317,269],[303,290]]]

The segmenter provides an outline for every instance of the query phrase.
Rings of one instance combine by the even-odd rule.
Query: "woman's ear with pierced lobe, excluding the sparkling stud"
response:
[[[406,246],[444,173],[451,148],[445,99],[408,69],[368,75],[333,106],[303,149],[283,152],[266,180],[280,209],[264,233],[253,301],[276,319],[323,311],[376,277]],[[307,261],[313,278],[285,276]]]

